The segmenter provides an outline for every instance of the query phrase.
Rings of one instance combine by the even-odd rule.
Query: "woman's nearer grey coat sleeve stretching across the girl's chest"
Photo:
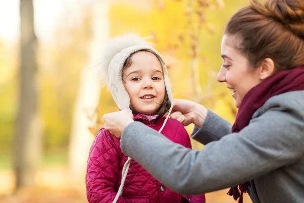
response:
[[[303,131],[302,110],[274,104],[240,132],[201,150],[175,144],[140,122],[126,126],[121,149],[173,191],[203,194],[298,161],[304,153]]]

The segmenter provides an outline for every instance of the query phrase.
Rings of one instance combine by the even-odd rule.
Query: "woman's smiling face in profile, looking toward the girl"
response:
[[[248,59],[235,47],[238,39],[235,36],[224,35],[221,42],[221,57],[223,63],[217,74],[218,82],[225,82],[232,91],[235,105],[239,108],[247,92],[262,80],[258,69],[250,66]]]

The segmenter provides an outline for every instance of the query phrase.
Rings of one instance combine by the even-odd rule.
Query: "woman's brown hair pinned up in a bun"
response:
[[[304,1],[251,0],[226,24],[224,33],[237,37],[236,48],[250,65],[265,58],[275,63],[276,72],[304,64]]]

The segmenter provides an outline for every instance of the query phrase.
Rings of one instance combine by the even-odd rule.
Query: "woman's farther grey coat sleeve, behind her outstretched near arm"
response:
[[[201,128],[194,127],[191,137],[194,140],[207,145],[210,142],[220,140],[226,134],[230,134],[231,128],[232,125],[228,121],[208,109],[203,126]]]

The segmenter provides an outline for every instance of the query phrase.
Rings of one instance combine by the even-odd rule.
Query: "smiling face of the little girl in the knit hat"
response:
[[[157,56],[146,51],[132,55],[131,66],[123,71],[124,86],[132,107],[141,114],[156,112],[165,98],[163,68]]]

